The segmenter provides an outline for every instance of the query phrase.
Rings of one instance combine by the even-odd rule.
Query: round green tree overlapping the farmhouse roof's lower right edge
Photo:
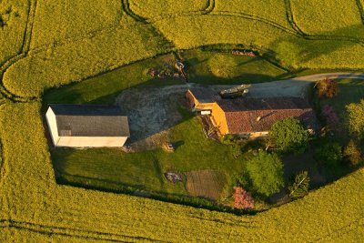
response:
[[[298,119],[288,117],[270,128],[269,138],[281,152],[300,154],[308,147],[309,133]]]

